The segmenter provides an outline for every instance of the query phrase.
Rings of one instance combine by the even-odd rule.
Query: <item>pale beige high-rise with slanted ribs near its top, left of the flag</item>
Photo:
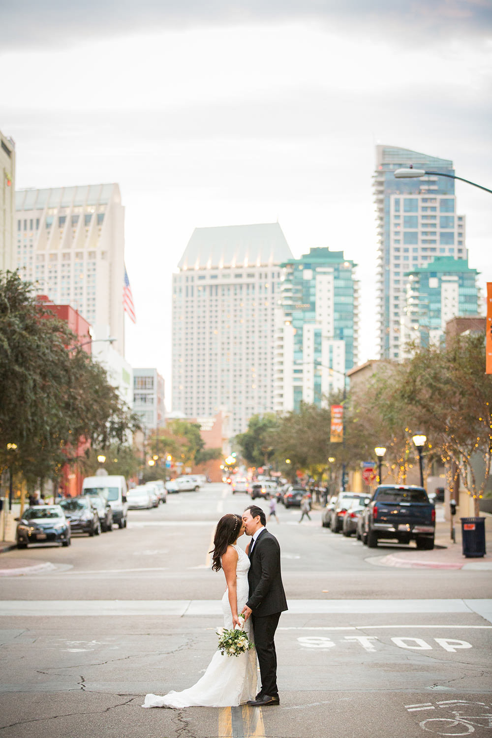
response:
[[[117,184],[19,190],[16,266],[21,277],[91,325],[109,326],[124,354],[125,209]]]

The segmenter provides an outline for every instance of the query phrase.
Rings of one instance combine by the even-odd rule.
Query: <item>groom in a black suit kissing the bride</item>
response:
[[[280,574],[280,546],[277,539],[265,528],[263,510],[250,505],[243,513],[246,535],[252,536],[249,544],[249,600],[243,615],[252,616],[254,646],[260,664],[261,689],[253,707],[280,705],[277,688],[277,653],[274,635],[280,613],[287,610],[287,600]]]

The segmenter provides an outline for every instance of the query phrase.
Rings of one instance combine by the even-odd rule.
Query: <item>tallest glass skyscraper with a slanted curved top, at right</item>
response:
[[[400,359],[400,318],[405,306],[404,274],[435,256],[466,259],[465,217],[456,213],[454,179],[428,175],[395,179],[395,169],[454,174],[453,162],[397,146],[376,146],[374,174],[378,213],[379,355]]]

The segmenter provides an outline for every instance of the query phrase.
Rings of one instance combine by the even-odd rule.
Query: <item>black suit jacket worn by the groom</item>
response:
[[[266,529],[257,537],[249,560],[247,606],[258,617],[283,613],[288,608],[280,573],[280,545]]]

